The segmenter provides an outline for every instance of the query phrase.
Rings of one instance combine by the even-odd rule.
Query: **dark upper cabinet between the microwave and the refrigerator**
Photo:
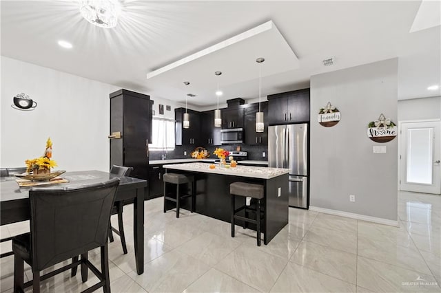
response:
[[[258,103],[245,108],[245,144],[268,144],[268,102],[262,102],[260,110],[263,111],[264,132],[256,132],[256,113],[259,111]]]

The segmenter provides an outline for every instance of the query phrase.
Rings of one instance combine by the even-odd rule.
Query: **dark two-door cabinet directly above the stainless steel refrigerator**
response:
[[[269,125],[309,121],[309,89],[269,95],[268,100]]]

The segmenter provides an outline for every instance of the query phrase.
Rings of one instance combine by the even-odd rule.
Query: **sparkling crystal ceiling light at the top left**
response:
[[[82,17],[100,28],[114,28],[120,7],[117,0],[80,0],[80,12]]]

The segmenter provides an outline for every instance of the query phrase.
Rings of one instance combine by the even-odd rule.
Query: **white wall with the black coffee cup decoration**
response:
[[[119,87],[1,56],[0,166],[24,166],[52,139],[56,169],[108,171],[109,94]],[[28,94],[34,111],[13,109]]]

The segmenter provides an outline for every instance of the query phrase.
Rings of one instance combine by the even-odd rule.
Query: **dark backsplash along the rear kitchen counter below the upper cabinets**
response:
[[[216,147],[221,147],[228,151],[236,151],[237,144],[223,144],[222,146],[203,146],[209,152],[209,158],[216,158],[216,155],[213,154]],[[192,151],[196,149],[196,146],[176,146],[173,151],[150,151],[150,160],[161,160],[163,158],[163,154],[167,160],[171,159],[183,159],[183,158],[191,158],[190,154]],[[187,152],[187,155],[184,155],[184,151]],[[268,158],[268,147],[267,146],[251,146],[247,144],[240,144],[240,151],[246,151],[248,153],[247,160],[257,160],[257,161],[267,161]],[[265,158],[263,158],[262,154],[265,152]]]

